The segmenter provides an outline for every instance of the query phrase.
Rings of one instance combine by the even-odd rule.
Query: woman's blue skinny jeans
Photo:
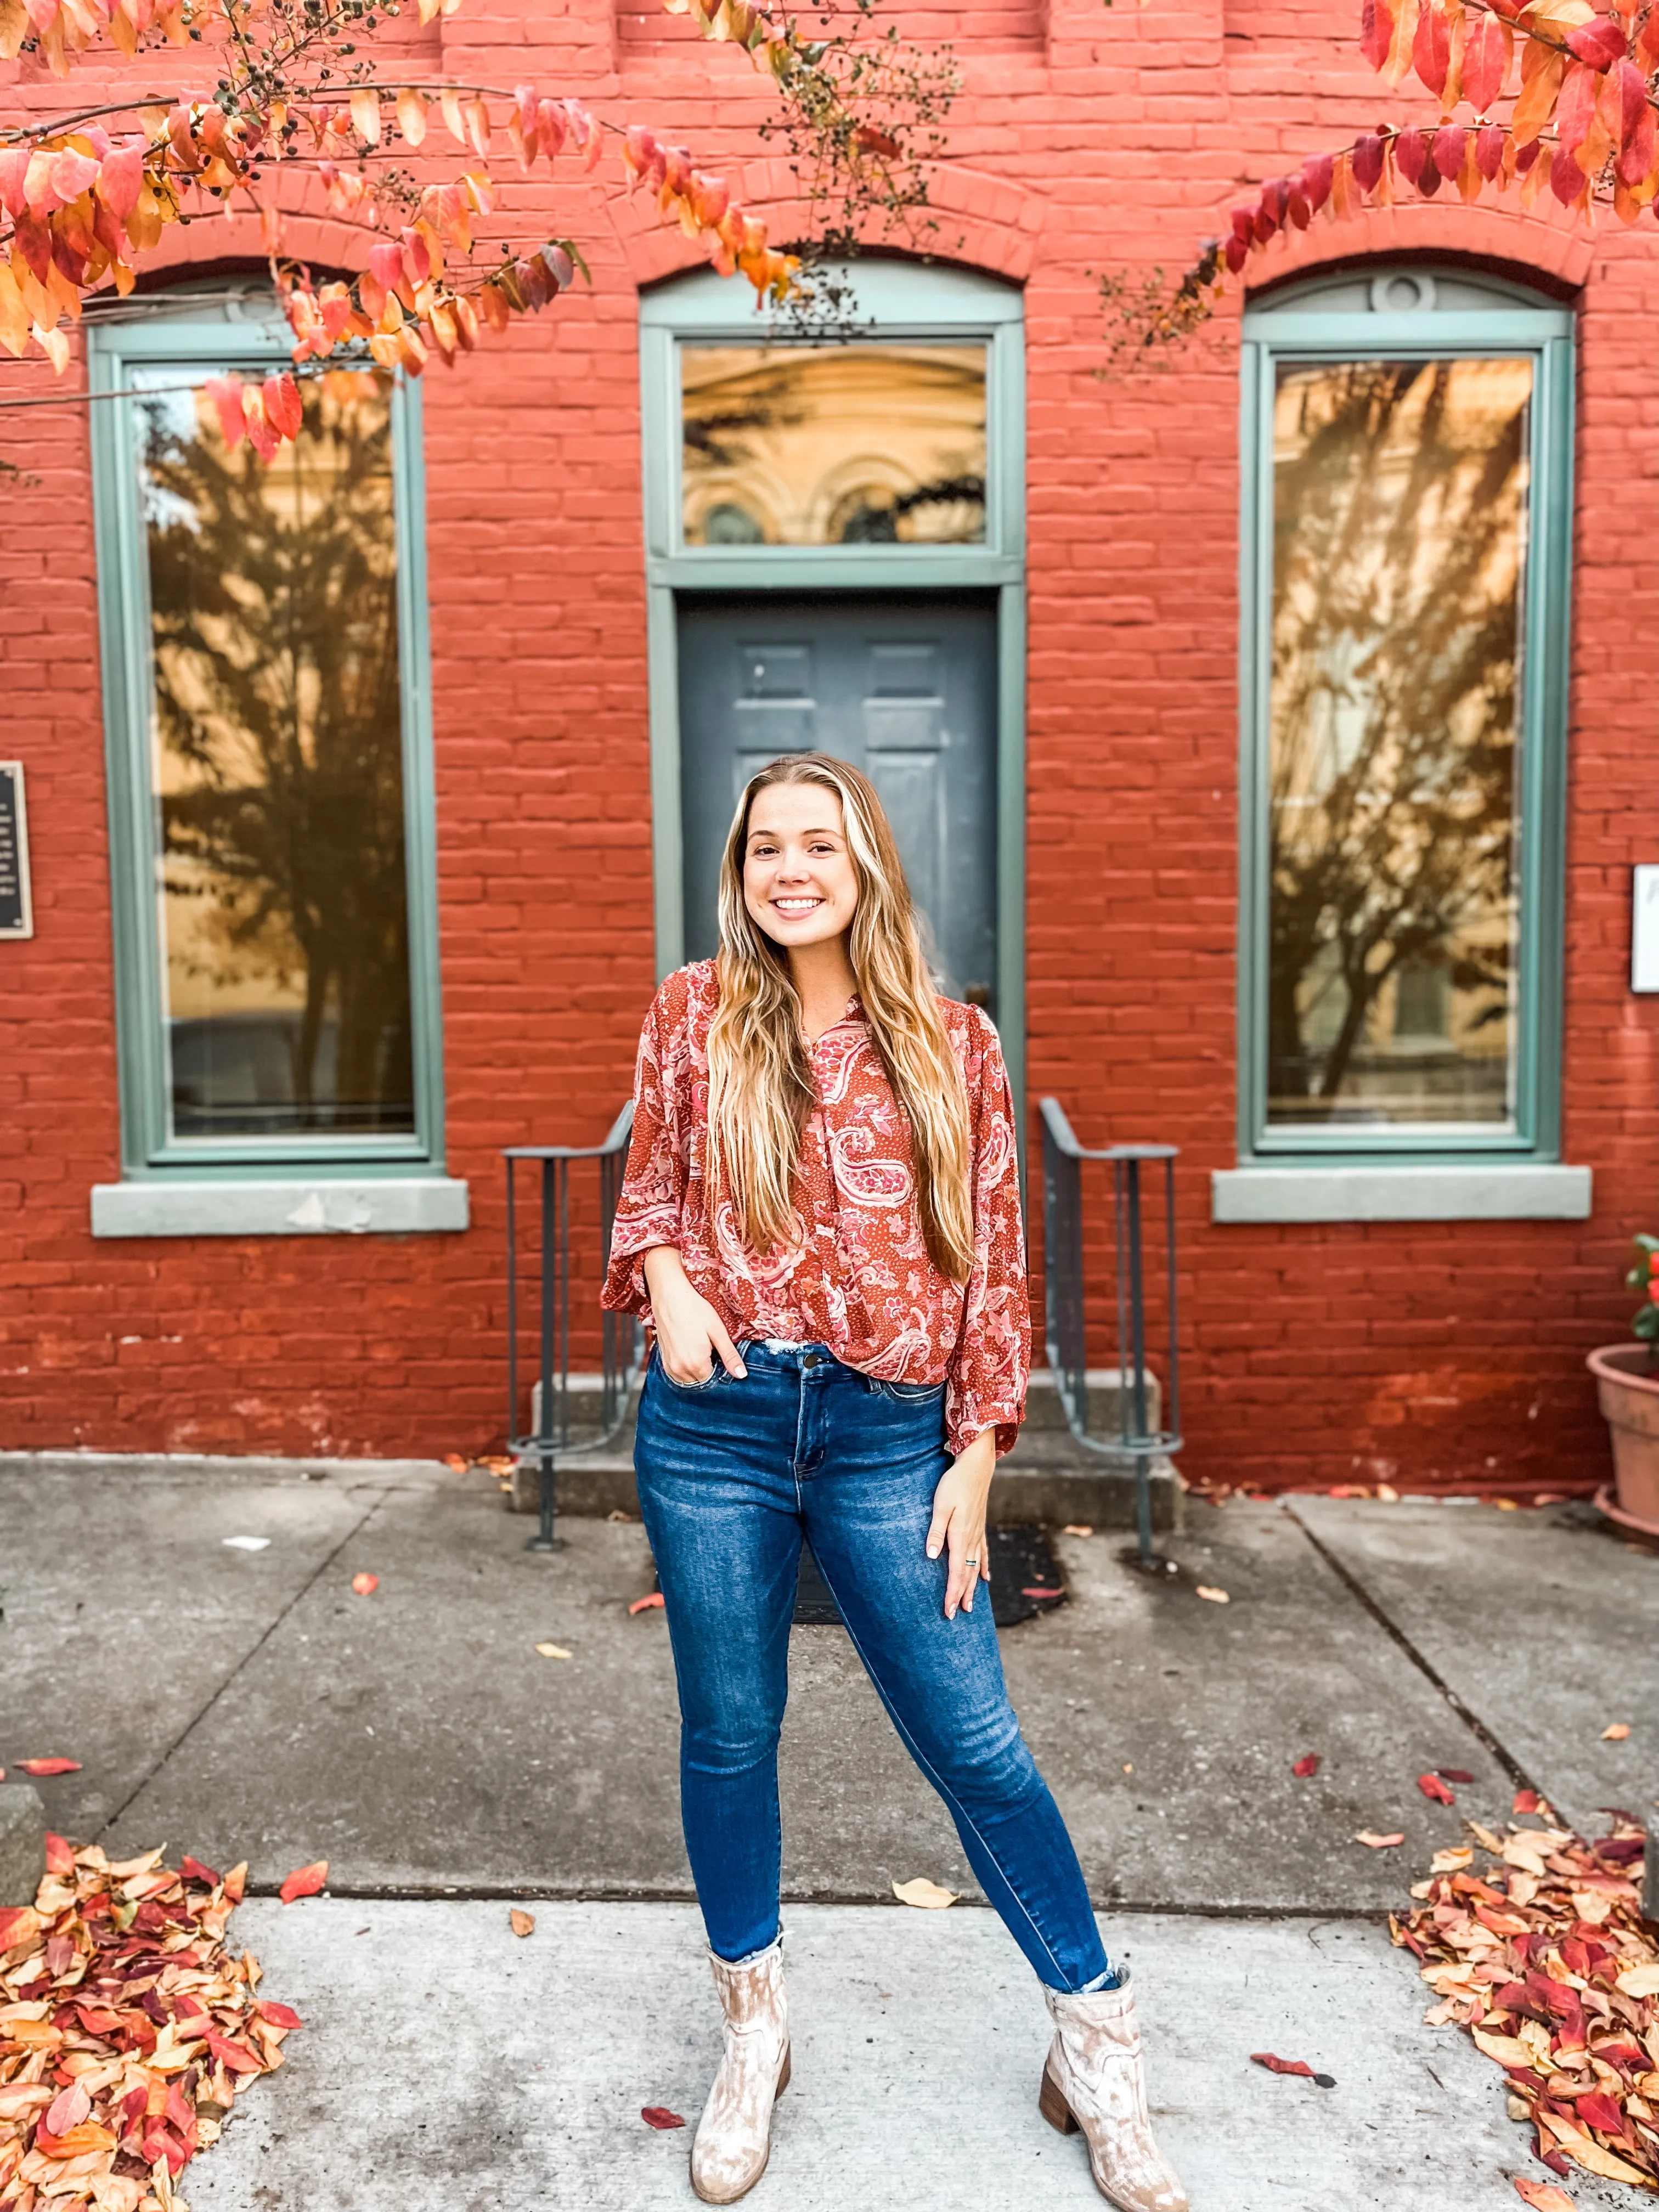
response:
[[[945,1389],[872,1383],[823,1345],[743,1345],[670,1383],[657,1354],[635,1469],[679,1681],[679,1803],[710,1949],[779,1936],[779,1730],[790,1617],[810,1537],[854,1648],[973,1876],[1051,1989],[1115,1986],[1060,1807],[1002,1683],[984,1590],[945,1619],[927,1557],[949,1467]]]

